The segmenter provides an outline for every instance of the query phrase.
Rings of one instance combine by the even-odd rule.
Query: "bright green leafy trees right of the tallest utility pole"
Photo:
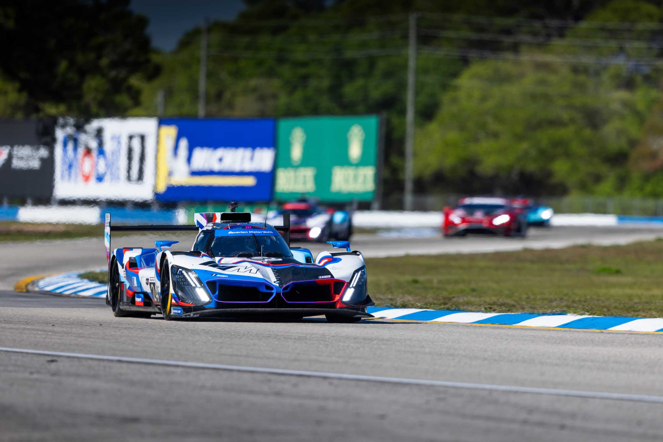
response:
[[[616,0],[548,52],[523,47],[516,61],[473,62],[417,134],[418,176],[445,180],[456,192],[663,195],[662,175],[638,174],[628,165],[660,99],[660,71],[631,63],[597,66],[600,57],[623,56],[620,46],[581,47],[577,40],[587,44],[587,32],[609,38],[592,27],[596,21],[650,22],[660,15],[650,3]],[[653,36],[633,32],[642,40]],[[579,60],[579,50],[591,62]],[[629,50],[631,57],[656,56],[649,48]]]

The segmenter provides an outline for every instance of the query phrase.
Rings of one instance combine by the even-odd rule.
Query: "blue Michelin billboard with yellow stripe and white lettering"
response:
[[[269,201],[276,121],[162,119],[156,168],[160,201]]]

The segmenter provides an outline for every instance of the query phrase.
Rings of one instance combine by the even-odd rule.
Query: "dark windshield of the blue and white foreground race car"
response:
[[[262,255],[261,255],[262,252]],[[253,258],[292,258],[292,252],[281,235],[238,235],[215,237],[210,247],[211,256],[239,256]]]

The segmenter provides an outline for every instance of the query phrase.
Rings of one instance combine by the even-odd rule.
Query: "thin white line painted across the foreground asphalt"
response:
[[[80,358],[80,359],[111,360],[114,362],[133,362],[136,364],[154,364],[154,365],[178,366],[178,367],[189,367],[189,368],[208,368],[212,370],[232,370],[232,371],[250,372],[250,373],[284,374],[287,376],[308,376],[311,378],[362,380],[368,382],[385,382],[389,384],[409,384],[409,385],[439,386],[439,387],[451,387],[451,388],[467,388],[469,390],[492,390],[492,391],[511,392],[511,393],[549,394],[552,396],[572,396],[574,398],[626,400],[631,402],[650,402],[654,404],[663,404],[663,396],[647,396],[644,394],[589,392],[582,390],[560,390],[557,388],[534,388],[534,387],[520,387],[512,385],[475,384],[471,382],[451,382],[446,380],[390,378],[385,376],[369,376],[365,374],[345,374],[345,373],[317,372],[317,371],[308,371],[308,370],[288,370],[285,368],[263,368],[263,367],[251,367],[251,366],[241,366],[241,365],[206,364],[204,362],[184,362],[180,360],[129,358],[122,356],[86,355],[84,353],[64,353],[60,351],[13,349],[11,347],[0,347],[0,351],[7,351],[11,353],[27,353],[30,355],[46,355],[46,356],[68,357],[68,358]]]

